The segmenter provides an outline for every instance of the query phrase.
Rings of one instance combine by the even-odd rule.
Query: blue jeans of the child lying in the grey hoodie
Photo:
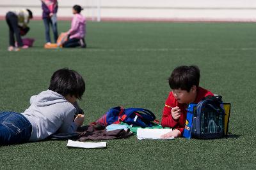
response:
[[[0,112],[0,145],[24,143],[29,140],[31,132],[32,125],[22,114]]]

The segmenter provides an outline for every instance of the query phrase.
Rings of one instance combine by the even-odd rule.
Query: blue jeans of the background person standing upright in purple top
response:
[[[43,18],[44,20],[44,27],[45,27],[45,39],[47,43],[51,43],[51,37],[50,37],[50,25],[52,26],[52,32],[54,36],[54,43],[57,42],[58,39],[58,29],[57,29],[57,17],[56,14],[54,14],[50,18]]]

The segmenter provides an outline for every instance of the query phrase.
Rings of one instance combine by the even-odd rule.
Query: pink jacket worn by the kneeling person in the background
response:
[[[86,20],[81,13],[74,14],[71,28],[68,30],[70,38],[84,38],[86,34]]]

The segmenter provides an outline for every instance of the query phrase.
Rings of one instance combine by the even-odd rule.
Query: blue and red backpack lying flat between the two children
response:
[[[124,122],[128,125],[140,127],[152,127],[153,122],[157,122],[152,111],[143,108],[127,108],[122,106],[111,108],[96,123],[101,125],[120,124]]]

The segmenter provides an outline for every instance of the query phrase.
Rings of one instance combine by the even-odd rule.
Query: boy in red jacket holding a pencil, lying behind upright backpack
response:
[[[170,78],[172,89],[166,99],[161,125],[172,127],[173,131],[164,134],[162,138],[180,137],[183,134],[189,103],[198,103],[206,96],[213,96],[209,90],[199,87],[200,70],[197,66],[176,67]]]

